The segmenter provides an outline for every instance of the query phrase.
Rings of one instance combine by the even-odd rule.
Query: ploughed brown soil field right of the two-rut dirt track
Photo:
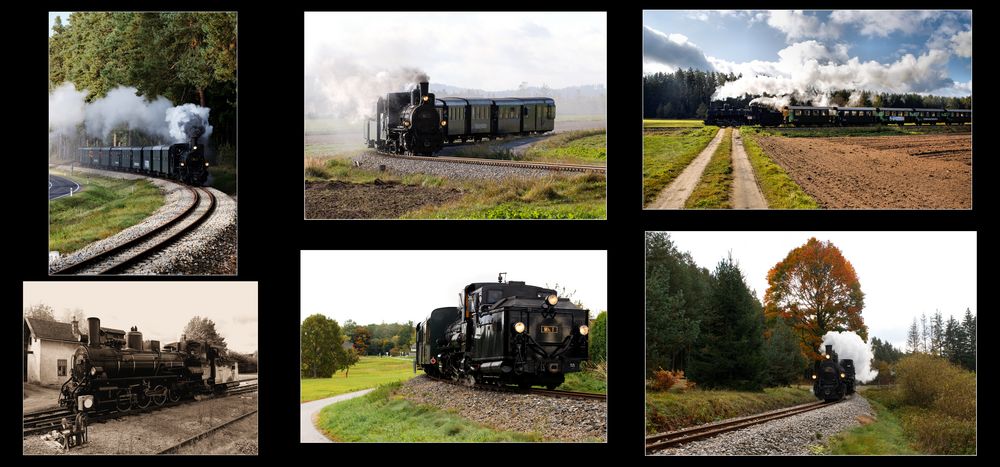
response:
[[[757,141],[824,208],[972,208],[968,134]]]

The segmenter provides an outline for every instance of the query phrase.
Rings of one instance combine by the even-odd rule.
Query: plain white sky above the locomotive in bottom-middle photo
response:
[[[416,322],[457,306],[466,285],[495,282],[500,272],[528,285],[559,284],[595,316],[608,309],[607,261],[604,250],[307,250],[300,321],[320,313],[341,324]]]

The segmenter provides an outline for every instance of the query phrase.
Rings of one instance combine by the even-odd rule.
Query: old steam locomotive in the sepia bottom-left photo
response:
[[[87,322],[90,329],[81,337],[86,344],[73,354],[72,374],[60,389],[60,406],[77,412],[127,411],[224,393],[239,385],[235,363],[207,343],[182,337],[160,349],[159,341],[143,342],[134,327],[121,335],[101,329],[99,318]]]

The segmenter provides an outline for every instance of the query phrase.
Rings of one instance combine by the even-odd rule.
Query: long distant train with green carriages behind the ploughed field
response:
[[[785,106],[778,112],[752,105],[749,109],[709,109],[706,125],[717,126],[863,126],[863,125],[964,125],[972,123],[972,110],[890,107]]]

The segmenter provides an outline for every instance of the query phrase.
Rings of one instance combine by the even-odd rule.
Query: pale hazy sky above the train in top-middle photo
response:
[[[607,14],[311,12],[305,58],[307,75],[333,62],[341,74],[410,67],[487,91],[606,85]]]

